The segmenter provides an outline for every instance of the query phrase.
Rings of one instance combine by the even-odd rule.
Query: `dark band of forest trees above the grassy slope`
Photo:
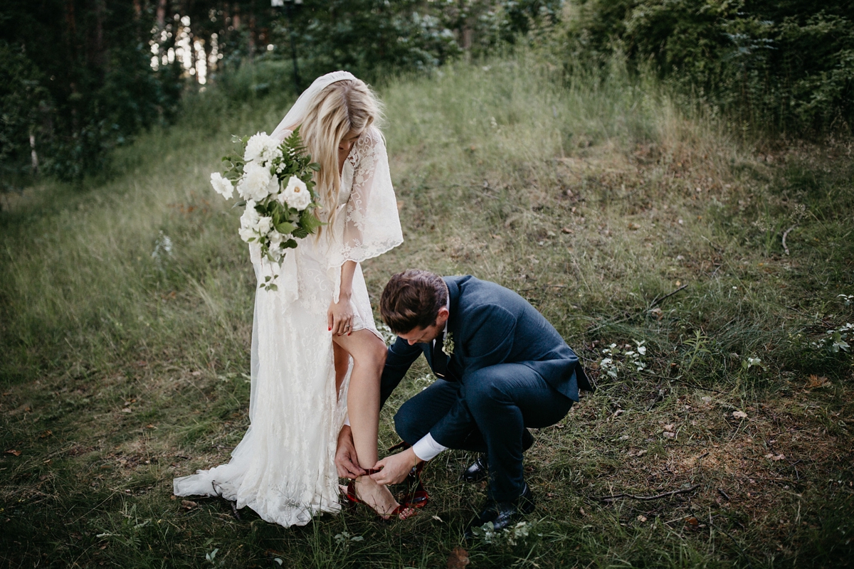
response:
[[[568,71],[614,53],[752,131],[846,131],[854,4],[724,0],[10,0],[0,8],[0,179],[79,179],[169,124],[208,81],[231,100],[336,69],[375,80],[548,41]],[[563,20],[563,21],[562,21]],[[557,32],[555,32],[557,30]],[[548,39],[544,34],[551,32]],[[290,72],[294,61],[299,73]],[[254,66],[260,80],[233,77]],[[302,77],[302,79],[300,79]],[[295,79],[295,80],[294,80]]]

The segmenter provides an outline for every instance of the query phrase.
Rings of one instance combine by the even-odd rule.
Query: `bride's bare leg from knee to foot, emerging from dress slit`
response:
[[[364,329],[349,336],[333,336],[333,339],[336,346],[353,357],[353,372],[347,392],[350,428],[359,466],[372,468],[379,458],[379,380],[385,365],[386,347],[383,340]],[[378,485],[370,476],[356,479],[356,493],[380,515],[390,514],[398,506],[389,489]]]

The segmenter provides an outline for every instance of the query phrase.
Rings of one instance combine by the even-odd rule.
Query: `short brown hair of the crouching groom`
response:
[[[436,323],[439,309],[447,305],[447,285],[429,270],[409,269],[391,277],[379,299],[383,322],[395,334]]]

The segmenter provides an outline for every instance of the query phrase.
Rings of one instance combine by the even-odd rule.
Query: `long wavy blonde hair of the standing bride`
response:
[[[320,171],[314,173],[314,182],[317,183],[320,203],[328,212],[326,221],[332,225],[341,192],[338,143],[350,131],[364,133],[368,127],[379,123],[382,107],[377,96],[360,79],[330,84],[314,96],[308,107],[300,135],[312,161],[320,165]]]

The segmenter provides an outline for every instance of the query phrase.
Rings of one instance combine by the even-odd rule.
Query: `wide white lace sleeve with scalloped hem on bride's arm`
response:
[[[345,261],[360,263],[403,242],[395,189],[391,186],[389,156],[383,135],[372,127],[356,142],[353,189],[344,216],[341,247],[330,259],[332,266]]]

